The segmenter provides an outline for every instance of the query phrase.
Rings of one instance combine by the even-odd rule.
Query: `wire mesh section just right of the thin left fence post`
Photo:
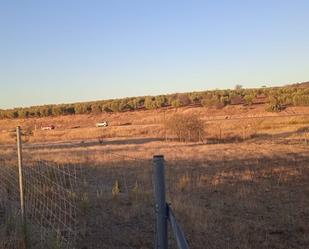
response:
[[[75,248],[79,168],[27,160],[23,177],[27,236],[31,248]]]

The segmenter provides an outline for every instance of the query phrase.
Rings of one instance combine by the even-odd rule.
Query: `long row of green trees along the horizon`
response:
[[[132,97],[73,104],[41,105],[0,110],[0,119],[49,117],[73,114],[98,114],[152,110],[162,107],[205,106],[222,108],[226,105],[266,104],[267,111],[281,111],[287,106],[309,106],[309,88],[273,87],[234,90],[212,90],[158,96]]]

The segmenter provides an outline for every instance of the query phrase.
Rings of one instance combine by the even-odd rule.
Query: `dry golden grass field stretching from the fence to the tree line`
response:
[[[203,142],[177,142],[166,134],[163,122],[175,112],[203,119]],[[111,125],[95,128],[100,120]],[[25,162],[81,168],[77,248],[153,248],[155,154],[165,156],[168,202],[190,248],[309,248],[308,108],[2,120],[0,156],[7,164],[16,163],[9,131],[18,124],[31,131],[24,137]],[[39,129],[48,124],[56,129]],[[170,244],[176,248],[171,233]]]

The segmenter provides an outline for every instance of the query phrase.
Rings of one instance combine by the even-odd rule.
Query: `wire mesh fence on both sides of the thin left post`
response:
[[[80,170],[30,160],[22,167],[25,223],[20,210],[17,153],[1,151],[0,248],[76,248]]]

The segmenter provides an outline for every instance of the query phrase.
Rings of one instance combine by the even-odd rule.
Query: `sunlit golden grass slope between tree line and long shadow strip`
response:
[[[207,137],[212,140],[243,140],[256,134],[294,131],[309,126],[309,108],[290,107],[282,113],[267,113],[263,106],[227,106],[223,109],[186,107],[100,115],[73,115],[37,119],[0,120],[0,144],[14,143],[14,129],[21,125],[30,143],[88,140],[112,137],[164,138],[164,121],[175,112],[199,115],[206,123]],[[303,116],[282,116],[299,115]],[[307,115],[307,116],[306,116]],[[95,123],[107,120],[107,128]],[[53,124],[55,130],[40,127]],[[77,127],[77,128],[76,128]]]

